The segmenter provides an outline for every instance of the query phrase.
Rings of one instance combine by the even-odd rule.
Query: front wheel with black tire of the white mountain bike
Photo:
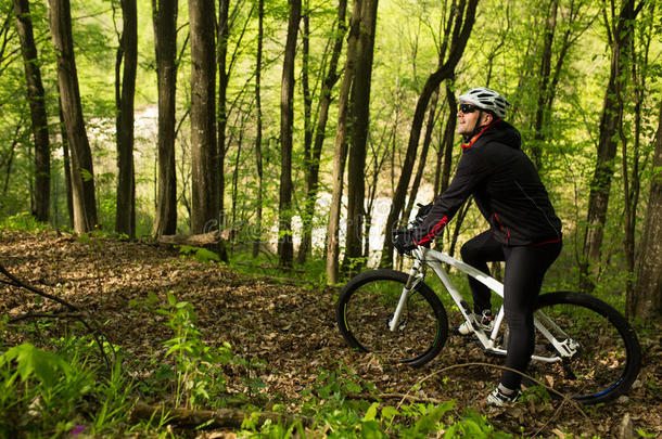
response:
[[[420,282],[409,296],[400,325],[391,332],[387,324],[407,279],[407,274],[394,270],[358,274],[341,292],[335,318],[351,347],[420,366],[436,357],[444,346],[448,318],[440,298]]]

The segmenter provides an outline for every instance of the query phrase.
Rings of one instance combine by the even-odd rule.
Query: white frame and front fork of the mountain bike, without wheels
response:
[[[497,343],[497,337],[499,335],[501,324],[504,323],[504,307],[501,306],[501,308],[497,312],[494,320],[494,327],[492,328],[492,332],[489,334],[485,334],[483,331],[478,330],[474,326],[473,319],[470,318],[472,312],[469,308],[469,305],[464,301],[464,299],[462,299],[458,288],[455,286],[455,284],[448,276],[448,272],[444,268],[444,264],[455,267],[459,271],[470,275],[471,277],[487,286],[501,298],[504,297],[504,284],[498,282],[496,279],[486,275],[482,271],[460,260],[457,260],[444,253],[424,247],[417,247],[412,253],[415,256],[413,267],[409,271],[409,279],[407,280],[407,284],[403,288],[403,293],[393,314],[393,319],[391,319],[391,321],[389,322],[389,330],[394,332],[398,327],[400,323],[400,318],[407,305],[407,299],[413,290],[413,287],[419,282],[422,282],[424,279],[424,273],[422,269],[427,264],[432,268],[434,273],[442,281],[444,287],[446,288],[450,297],[453,297],[453,300],[456,302],[458,309],[462,313],[462,317],[464,318],[467,323],[469,323],[473,333],[478,336],[485,351],[498,356],[506,356],[506,349],[499,347]],[[555,347],[557,354],[549,357],[540,357],[534,354],[532,357],[532,360],[552,363],[556,361],[560,361],[562,358],[570,358],[577,352],[578,344],[572,338],[570,338],[553,321],[551,321],[551,319],[547,318],[547,315],[545,315],[543,312],[535,312],[534,325]],[[555,336],[555,334],[557,336]]]

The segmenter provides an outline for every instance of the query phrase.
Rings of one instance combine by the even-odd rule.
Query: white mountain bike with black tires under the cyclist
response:
[[[347,344],[362,352],[420,366],[444,347],[448,318],[444,305],[424,283],[431,268],[488,356],[505,357],[508,330],[504,307],[491,331],[476,324],[470,306],[445,266],[456,268],[504,297],[504,285],[444,253],[417,247],[409,273],[367,271],[342,289],[335,315]],[[529,374],[584,404],[611,401],[627,392],[641,365],[641,348],[627,320],[596,297],[556,292],[538,297],[534,313],[535,351]]]

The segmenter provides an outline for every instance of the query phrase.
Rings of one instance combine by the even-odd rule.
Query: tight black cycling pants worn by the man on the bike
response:
[[[486,231],[468,241],[461,248],[462,260],[489,274],[487,262],[506,261],[504,274],[504,311],[510,337],[506,367],[524,372],[535,348],[533,307],[540,293],[545,272],[561,253],[561,242],[507,246],[498,243]],[[469,277],[473,294],[474,312],[491,309],[491,290]],[[501,384],[509,389],[519,389],[522,376],[510,371],[501,374]]]

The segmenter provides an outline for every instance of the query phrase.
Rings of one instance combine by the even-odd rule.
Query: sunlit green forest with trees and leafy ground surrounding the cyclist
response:
[[[662,434],[660,1],[12,0],[0,18],[1,434]],[[351,276],[410,266],[392,231],[448,188],[474,87],[510,102],[562,221],[543,289],[639,334],[620,406],[485,415],[475,371],[422,385],[434,367],[338,335]],[[434,246],[459,257],[487,228],[469,199]],[[190,413],[133,417],[158,404]]]

